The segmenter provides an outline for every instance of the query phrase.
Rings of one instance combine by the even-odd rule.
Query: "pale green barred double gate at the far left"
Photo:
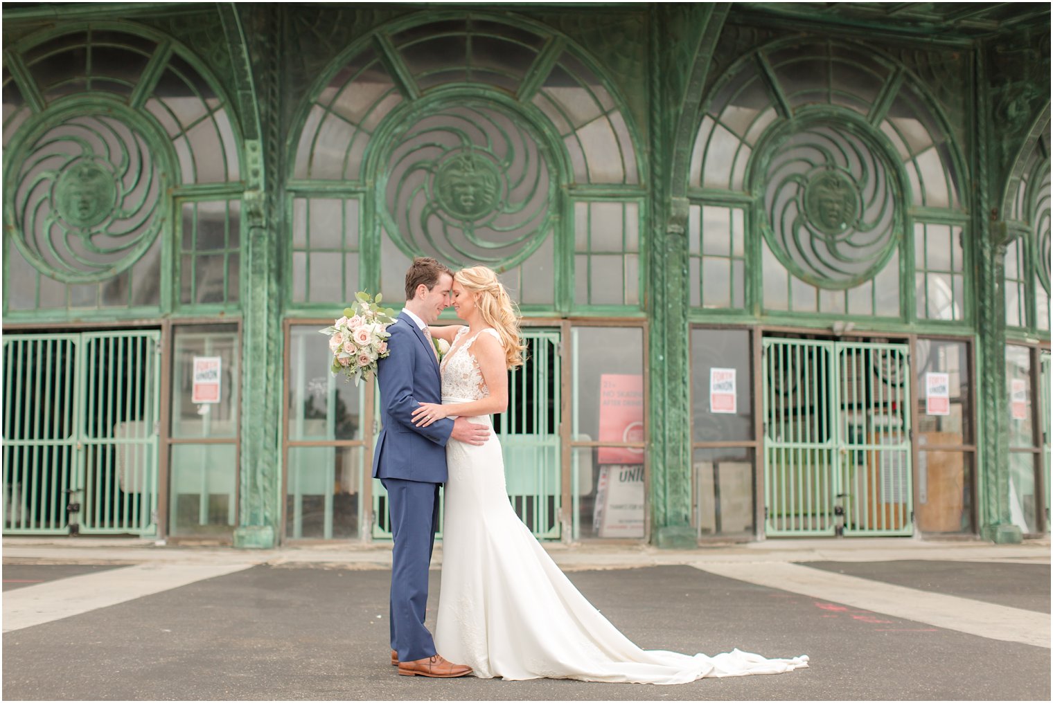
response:
[[[158,330],[5,335],[5,534],[155,535]]]

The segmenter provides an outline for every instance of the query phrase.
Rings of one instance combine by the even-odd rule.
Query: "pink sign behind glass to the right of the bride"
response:
[[[599,441],[643,441],[643,377],[602,374],[599,377]],[[600,447],[599,464],[642,464],[640,447]]]

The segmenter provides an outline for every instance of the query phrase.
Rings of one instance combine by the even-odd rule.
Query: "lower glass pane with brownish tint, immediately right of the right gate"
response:
[[[922,435],[918,444],[923,446],[931,439]],[[918,529],[973,531],[972,463],[972,455],[965,451],[918,453]]]

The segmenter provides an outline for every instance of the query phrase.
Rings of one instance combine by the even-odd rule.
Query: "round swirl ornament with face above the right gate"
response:
[[[903,230],[901,188],[883,150],[842,126],[813,122],[770,142],[768,154],[763,232],[779,261],[822,288],[873,278]]]

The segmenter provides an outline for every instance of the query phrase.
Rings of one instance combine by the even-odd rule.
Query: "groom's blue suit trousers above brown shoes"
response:
[[[435,655],[428,612],[428,567],[439,526],[439,484],[380,479],[392,519],[392,591],[389,618],[392,649],[400,662]]]

